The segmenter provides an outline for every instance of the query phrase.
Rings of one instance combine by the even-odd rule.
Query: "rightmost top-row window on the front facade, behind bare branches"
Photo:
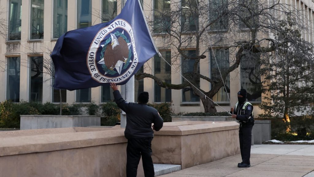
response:
[[[240,19],[239,19],[239,28],[255,28],[258,15],[258,1],[257,0],[239,0],[240,10]]]

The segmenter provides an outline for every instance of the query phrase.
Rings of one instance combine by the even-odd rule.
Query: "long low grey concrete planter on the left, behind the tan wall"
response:
[[[20,129],[100,126],[100,116],[21,115]]]

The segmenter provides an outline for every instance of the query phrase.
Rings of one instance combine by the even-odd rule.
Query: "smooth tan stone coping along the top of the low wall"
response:
[[[189,135],[237,129],[230,122],[182,121],[164,123],[155,135]],[[124,128],[49,128],[0,132],[0,157],[126,143]]]

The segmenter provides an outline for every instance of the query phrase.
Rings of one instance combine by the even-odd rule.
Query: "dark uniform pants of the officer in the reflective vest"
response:
[[[251,141],[252,141],[252,128],[251,126],[240,126],[239,139],[240,139],[240,150],[243,163],[250,164],[251,156]]]

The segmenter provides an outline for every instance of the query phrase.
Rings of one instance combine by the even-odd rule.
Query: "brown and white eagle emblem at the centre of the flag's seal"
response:
[[[124,34],[124,31],[122,31],[122,34]],[[111,43],[106,47],[104,58],[97,63],[106,65],[106,67],[110,70],[115,68],[120,74],[123,63],[127,62],[129,57],[131,43],[127,43],[122,37],[117,38],[115,34],[110,34],[110,36]],[[101,45],[101,47],[104,47],[104,45]]]

